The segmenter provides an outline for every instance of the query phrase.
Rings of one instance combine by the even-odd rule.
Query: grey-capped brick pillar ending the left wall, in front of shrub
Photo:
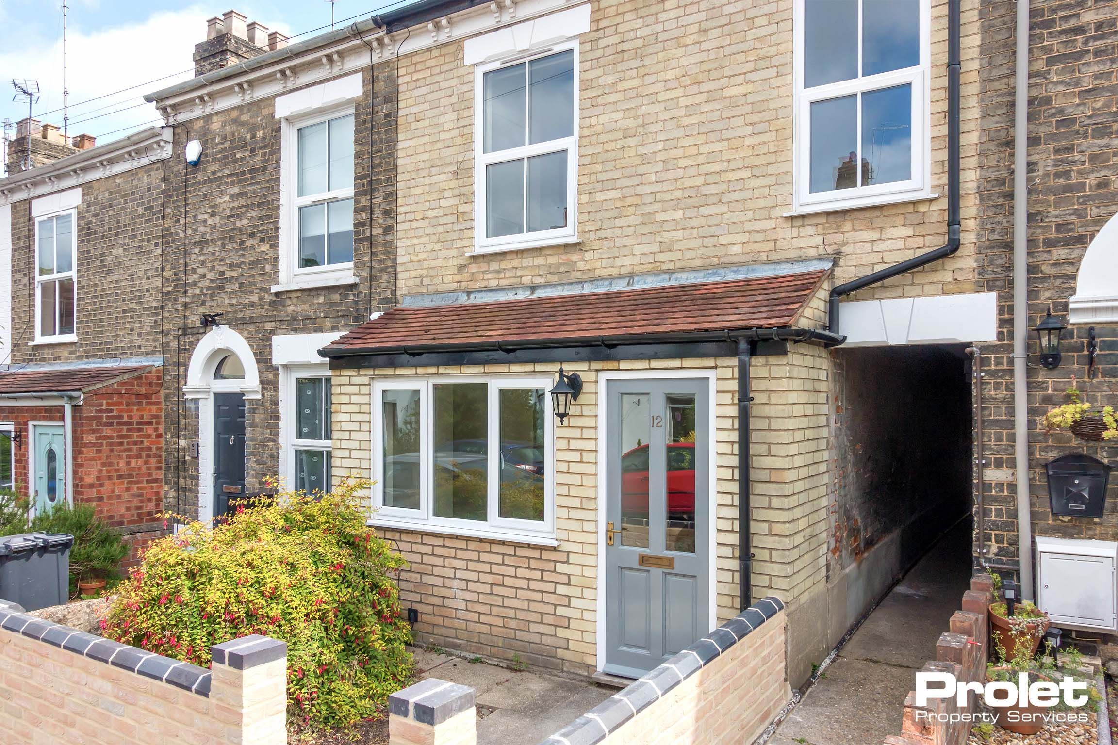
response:
[[[211,648],[210,700],[240,745],[287,743],[287,642],[254,633]]]

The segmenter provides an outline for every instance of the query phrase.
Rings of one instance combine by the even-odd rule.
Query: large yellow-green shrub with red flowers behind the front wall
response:
[[[364,486],[249,499],[216,527],[193,523],[151,544],[104,634],[202,667],[212,644],[282,639],[293,723],[375,715],[410,677],[410,630],[388,575],[404,560],[366,525]]]

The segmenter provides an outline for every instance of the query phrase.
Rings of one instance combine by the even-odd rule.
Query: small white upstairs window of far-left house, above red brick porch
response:
[[[66,210],[35,221],[35,340],[77,340],[77,213]]]

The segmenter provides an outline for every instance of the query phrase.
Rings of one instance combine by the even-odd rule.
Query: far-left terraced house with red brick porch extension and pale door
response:
[[[25,120],[18,134],[0,180],[0,488],[31,515],[95,505],[132,563],[163,534],[153,319],[171,133],[96,145]]]

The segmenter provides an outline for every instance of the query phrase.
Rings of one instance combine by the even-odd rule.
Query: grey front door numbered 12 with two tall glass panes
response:
[[[639,677],[710,631],[709,388],[606,383],[606,672]]]

